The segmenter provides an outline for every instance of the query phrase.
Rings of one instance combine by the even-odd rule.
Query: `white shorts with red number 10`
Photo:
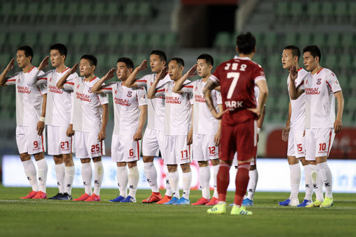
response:
[[[329,156],[334,142],[333,128],[309,128],[305,130],[305,159],[316,160],[317,157]]]

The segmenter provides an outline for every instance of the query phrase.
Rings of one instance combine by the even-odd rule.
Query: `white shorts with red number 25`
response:
[[[104,141],[98,141],[97,132],[75,131],[75,157],[96,158],[105,155]]]

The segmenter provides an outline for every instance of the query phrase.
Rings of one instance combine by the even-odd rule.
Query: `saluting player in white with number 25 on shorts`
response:
[[[96,94],[91,87],[99,78],[94,75],[96,64],[94,55],[85,54],[80,58],[80,76],[73,82],[67,79],[75,73],[78,63],[57,82],[57,88],[73,90],[73,130],[75,131],[75,156],[82,162],[82,179],[85,193],[73,201],[101,201],[100,189],[103,181],[105,155],[104,139],[108,119],[107,95]],[[94,162],[94,192],[91,194],[91,159]]]

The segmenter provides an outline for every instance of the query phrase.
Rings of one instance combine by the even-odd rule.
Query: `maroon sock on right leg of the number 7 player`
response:
[[[237,175],[235,180],[236,191],[234,204],[239,206],[242,205],[244,195],[246,194],[247,185],[249,184],[249,169],[249,162],[239,164],[239,168],[237,169]]]

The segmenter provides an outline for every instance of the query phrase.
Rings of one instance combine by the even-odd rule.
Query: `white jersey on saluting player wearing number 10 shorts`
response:
[[[341,87],[334,72],[321,68],[304,79],[306,93],[306,128],[333,128],[335,122],[335,96]]]

